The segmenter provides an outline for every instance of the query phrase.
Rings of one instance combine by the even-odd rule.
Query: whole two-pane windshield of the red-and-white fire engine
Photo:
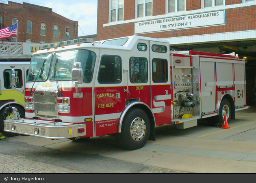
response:
[[[75,62],[81,62],[84,72],[83,81],[91,82],[96,54],[89,50],[63,51],[31,58],[27,81],[67,81],[72,80],[72,68]],[[52,64],[51,64],[52,62]],[[50,72],[50,73],[49,73]]]

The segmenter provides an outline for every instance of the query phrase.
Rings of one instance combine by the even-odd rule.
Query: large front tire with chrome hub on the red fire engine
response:
[[[150,136],[150,120],[142,109],[135,108],[126,114],[121,133],[117,136],[124,149],[135,150],[143,147]]]

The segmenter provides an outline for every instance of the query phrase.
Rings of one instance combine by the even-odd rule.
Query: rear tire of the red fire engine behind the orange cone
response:
[[[227,121],[229,122],[231,119],[231,105],[228,99],[223,98],[221,100],[221,104],[219,106],[219,115],[217,117],[218,122],[223,125],[224,123],[224,116],[227,115]]]

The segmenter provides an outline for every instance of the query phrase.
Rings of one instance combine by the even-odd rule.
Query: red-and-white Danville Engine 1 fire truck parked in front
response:
[[[167,40],[142,36],[81,38],[33,53],[26,118],[10,107],[4,131],[70,140],[113,135],[134,150],[155,140],[156,126],[235,119],[248,109],[245,94],[245,60],[235,54],[170,51]]]

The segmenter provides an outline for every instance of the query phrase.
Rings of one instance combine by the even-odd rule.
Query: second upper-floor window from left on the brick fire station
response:
[[[152,16],[152,0],[137,0],[137,18]]]

